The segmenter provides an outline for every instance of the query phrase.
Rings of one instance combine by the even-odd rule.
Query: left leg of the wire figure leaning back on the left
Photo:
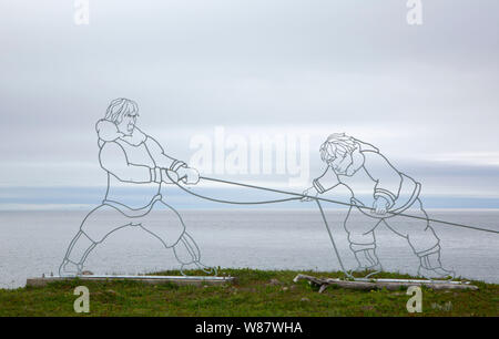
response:
[[[108,217],[111,216],[113,222],[103,225],[104,214]],[[130,220],[126,216],[110,206],[101,205],[90,212],[68,247],[64,259],[59,267],[59,275],[81,275],[83,264],[95,246],[114,230],[129,225]]]

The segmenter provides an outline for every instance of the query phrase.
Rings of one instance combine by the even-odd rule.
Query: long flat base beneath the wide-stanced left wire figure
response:
[[[82,281],[141,281],[144,284],[175,284],[179,286],[204,286],[204,285],[223,285],[232,284],[234,277],[210,277],[210,276],[79,276],[79,277],[42,277],[42,278],[28,278],[27,286],[45,286],[53,281],[64,281],[80,279]]]

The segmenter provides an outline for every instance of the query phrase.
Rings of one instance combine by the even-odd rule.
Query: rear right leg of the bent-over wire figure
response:
[[[419,199],[414,205],[415,210],[407,210],[405,214],[418,216],[422,219],[414,219],[404,216],[396,216],[386,219],[387,226],[406,238],[414,253],[419,258],[418,274],[427,278],[445,278],[454,276],[454,273],[442,268],[440,261],[440,239],[430,226],[428,215],[422,208]]]

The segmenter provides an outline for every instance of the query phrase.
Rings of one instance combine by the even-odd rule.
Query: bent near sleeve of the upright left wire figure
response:
[[[123,148],[113,142],[105,143],[99,153],[102,168],[122,182],[145,184],[155,178],[154,168],[130,164]]]

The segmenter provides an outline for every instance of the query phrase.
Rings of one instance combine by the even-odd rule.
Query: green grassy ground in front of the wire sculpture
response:
[[[213,287],[145,285],[134,281],[63,281],[47,287],[0,290],[0,316],[415,316],[406,310],[405,290],[358,291],[329,287],[324,294],[298,271],[223,269],[237,282]],[[339,273],[304,273],[340,277]],[[177,275],[177,271],[159,273]],[[195,275],[195,271],[191,271]],[[379,277],[409,278],[384,274]],[[422,314],[416,316],[499,316],[499,285],[473,281],[478,291],[422,288]],[[77,286],[90,289],[90,314],[75,314]]]

